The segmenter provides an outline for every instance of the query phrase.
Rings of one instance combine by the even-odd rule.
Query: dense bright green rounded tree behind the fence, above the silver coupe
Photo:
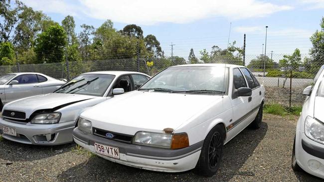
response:
[[[44,32],[37,35],[35,52],[37,62],[60,62],[67,45],[67,36],[63,27],[52,25]]]

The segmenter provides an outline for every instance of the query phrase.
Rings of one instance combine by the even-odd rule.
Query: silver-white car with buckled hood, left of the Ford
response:
[[[73,141],[72,130],[82,111],[137,89],[150,77],[138,72],[101,71],[81,74],[54,93],[4,105],[0,134],[23,144],[60,145]]]

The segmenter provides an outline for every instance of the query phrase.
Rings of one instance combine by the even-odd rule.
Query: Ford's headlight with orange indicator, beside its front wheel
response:
[[[141,131],[135,134],[133,143],[167,149],[181,149],[189,146],[189,139],[186,133],[163,134]]]

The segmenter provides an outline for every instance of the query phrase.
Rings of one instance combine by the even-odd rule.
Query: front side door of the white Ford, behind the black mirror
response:
[[[230,125],[227,126],[228,140],[235,137],[246,126],[246,118],[252,109],[252,102],[249,102],[249,96],[237,96],[237,89],[247,87],[246,80],[239,68],[232,69],[233,85],[232,95],[230,96],[233,118]]]

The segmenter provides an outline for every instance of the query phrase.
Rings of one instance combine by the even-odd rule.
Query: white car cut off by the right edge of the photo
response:
[[[307,98],[297,123],[292,168],[324,179],[324,65],[314,86],[303,91]]]

